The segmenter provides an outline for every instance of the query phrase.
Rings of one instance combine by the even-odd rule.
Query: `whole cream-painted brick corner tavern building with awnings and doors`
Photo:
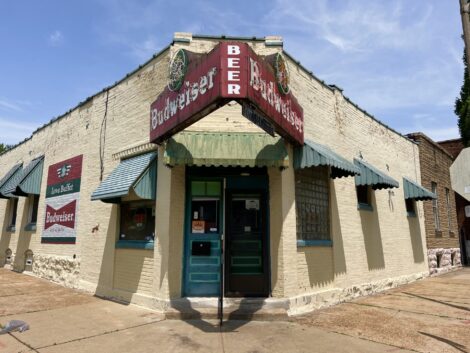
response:
[[[169,117],[151,107],[173,94],[170,62],[189,61],[187,73],[172,71],[183,75],[172,92],[175,110],[191,109],[226,72],[191,81],[191,65],[204,66],[201,54],[227,41],[248,43],[259,58],[251,88],[253,76],[272,70],[270,58],[288,68],[288,80],[276,71],[278,86],[266,83],[253,99],[276,109],[295,97],[286,114],[305,145],[275,124],[267,134],[258,126],[269,130],[271,117],[252,105],[247,119],[243,99],[219,99],[184,131],[149,143]],[[227,305],[256,297],[295,314],[427,275],[420,171],[415,142],[317,79],[281,38],[177,33],[134,72],[0,155],[0,264],[162,311],[211,307],[223,293]]]

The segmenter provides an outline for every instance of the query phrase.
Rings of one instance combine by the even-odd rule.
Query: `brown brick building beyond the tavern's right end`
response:
[[[421,184],[437,196],[435,200],[424,202],[428,262],[433,274],[461,265],[455,195],[449,170],[453,156],[423,133],[412,133],[408,137],[419,143]]]

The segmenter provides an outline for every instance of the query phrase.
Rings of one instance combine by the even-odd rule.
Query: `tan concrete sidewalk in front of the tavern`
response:
[[[0,352],[466,352],[470,269],[429,278],[289,322],[164,320],[0,269]]]

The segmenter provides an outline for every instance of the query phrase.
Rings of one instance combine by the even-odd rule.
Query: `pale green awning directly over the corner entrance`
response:
[[[181,132],[166,144],[166,165],[195,166],[289,166],[284,141],[259,133]]]

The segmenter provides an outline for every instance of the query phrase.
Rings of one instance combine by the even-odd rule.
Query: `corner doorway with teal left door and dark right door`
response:
[[[183,296],[269,296],[267,170],[188,169]]]

